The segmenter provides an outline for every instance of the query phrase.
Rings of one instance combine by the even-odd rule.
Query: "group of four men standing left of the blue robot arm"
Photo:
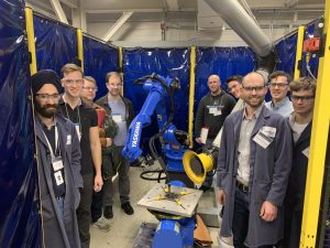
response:
[[[121,208],[134,214],[130,165],[121,154],[133,107],[121,96],[117,72],[107,74],[109,93],[97,103],[95,78],[75,64],[64,65],[61,73],[62,78],[43,69],[31,79],[42,241],[47,248],[88,248],[91,223],[110,228],[117,173]]]

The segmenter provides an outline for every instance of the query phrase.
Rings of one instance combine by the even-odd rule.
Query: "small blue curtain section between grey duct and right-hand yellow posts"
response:
[[[276,71],[284,71],[290,75],[294,75],[296,63],[298,33],[295,32],[289,36],[284,37],[275,45],[275,51],[278,56],[278,63],[276,64]]]

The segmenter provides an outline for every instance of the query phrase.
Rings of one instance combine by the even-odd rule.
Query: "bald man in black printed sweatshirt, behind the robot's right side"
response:
[[[221,88],[221,80],[218,75],[211,75],[208,78],[210,93],[201,98],[197,109],[195,120],[196,141],[205,148],[211,148],[215,138],[220,131],[224,119],[230,115],[235,106],[232,96],[224,93]],[[211,172],[212,173],[212,172]],[[208,173],[201,190],[208,190],[212,185],[212,174]]]

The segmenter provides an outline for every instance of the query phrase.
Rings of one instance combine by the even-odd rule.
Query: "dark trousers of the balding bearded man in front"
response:
[[[244,245],[244,240],[248,235],[249,214],[249,194],[237,188],[232,223],[233,245],[235,248],[248,248]],[[273,246],[260,246],[258,248],[273,248]]]

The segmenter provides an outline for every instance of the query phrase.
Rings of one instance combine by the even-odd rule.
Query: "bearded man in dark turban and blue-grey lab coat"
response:
[[[80,248],[80,148],[74,123],[57,115],[61,90],[54,71],[32,76],[43,242],[47,248]]]

